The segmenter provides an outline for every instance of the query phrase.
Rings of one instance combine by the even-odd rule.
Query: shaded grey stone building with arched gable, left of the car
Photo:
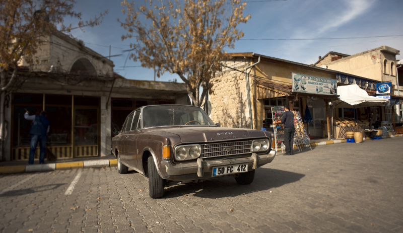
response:
[[[138,107],[189,104],[185,84],[127,80],[113,72],[111,60],[73,38],[55,33],[47,42],[35,55],[39,63],[20,62],[19,77],[26,82],[2,96],[8,135],[3,160],[28,159],[31,122],[23,117],[25,109],[47,112],[47,147],[64,159],[110,154],[111,138]]]

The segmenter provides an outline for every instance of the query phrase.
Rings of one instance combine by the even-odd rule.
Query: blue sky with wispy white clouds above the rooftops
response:
[[[253,2],[252,2],[253,1]],[[400,50],[403,58],[403,2],[401,0],[264,0],[246,1],[244,14],[251,19],[238,28],[244,37],[227,52],[254,52],[304,64],[313,64],[318,56],[329,51],[353,55],[386,45]],[[135,1],[139,5],[144,1]],[[104,56],[111,57],[114,71],[127,79],[154,80],[154,71],[140,66],[140,62],[127,59],[130,42],[121,40],[126,31],[117,19],[124,21],[120,1],[79,0],[75,10],[82,13],[83,20],[94,18],[105,10],[109,13],[102,24],[84,31],[73,30],[72,35],[85,45]],[[66,18],[64,25],[77,24],[76,19]],[[401,35],[401,36],[398,36]],[[392,37],[380,37],[392,36]],[[351,38],[332,40],[289,40],[312,38]],[[371,38],[372,37],[372,38]],[[254,39],[254,40],[248,40]],[[256,40],[276,39],[276,40]],[[288,39],[288,40],[279,40]],[[123,68],[123,66],[125,66]],[[165,73],[157,81],[172,81],[177,74]]]

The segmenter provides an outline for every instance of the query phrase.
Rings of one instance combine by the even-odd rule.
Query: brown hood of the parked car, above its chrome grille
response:
[[[240,128],[182,127],[164,129],[163,131],[178,135],[182,143],[214,142],[266,137],[261,130]]]

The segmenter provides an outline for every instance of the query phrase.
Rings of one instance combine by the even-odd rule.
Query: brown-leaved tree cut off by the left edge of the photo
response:
[[[0,0],[0,140],[5,138],[5,93],[24,82],[18,76],[21,59],[33,64],[36,62],[36,49],[43,43],[44,36],[56,30],[70,33],[72,29],[98,25],[107,14],[105,11],[99,17],[84,22],[81,13],[73,10],[75,3],[74,0]],[[66,16],[79,19],[78,25],[64,26]],[[2,151],[0,148],[3,154]]]

